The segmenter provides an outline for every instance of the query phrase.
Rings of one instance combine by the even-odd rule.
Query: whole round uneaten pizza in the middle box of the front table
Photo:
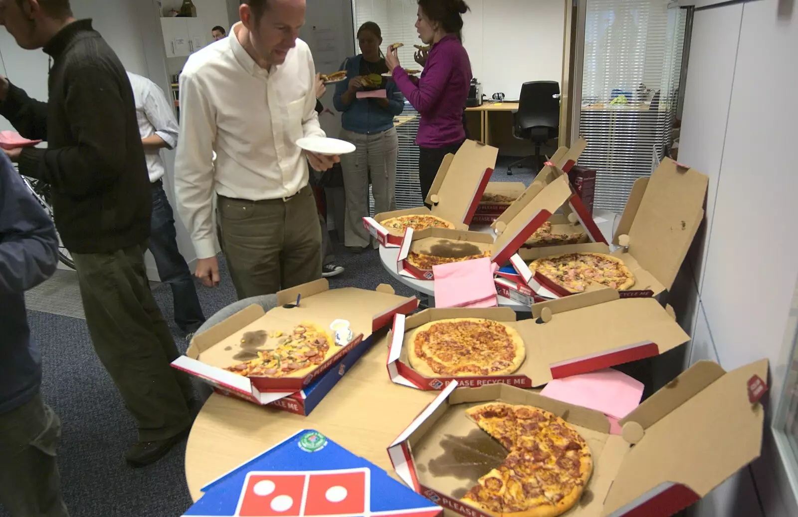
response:
[[[517,330],[481,318],[426,323],[409,337],[410,365],[426,377],[509,375],[526,355]]]

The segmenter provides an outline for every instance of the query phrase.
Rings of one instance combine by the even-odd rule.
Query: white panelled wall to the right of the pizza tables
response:
[[[691,361],[708,358],[734,369],[767,357],[769,408],[787,371],[792,343],[784,337],[795,326],[788,318],[798,277],[798,175],[788,157],[798,140],[798,107],[784,102],[798,81],[798,12],[780,15],[780,3],[696,12],[679,150],[680,161],[710,177],[705,231],[690,256]],[[772,86],[764,94],[763,77]],[[753,242],[746,235],[754,235]],[[763,457],[702,501],[697,515],[760,515],[751,503],[753,487],[761,515],[798,515],[795,487],[777,485],[783,460],[768,446],[770,433],[768,421]]]

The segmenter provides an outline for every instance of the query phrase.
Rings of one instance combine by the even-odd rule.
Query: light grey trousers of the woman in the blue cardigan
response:
[[[344,244],[347,247],[368,247],[371,235],[363,227],[363,218],[369,216],[369,176],[377,214],[396,210],[399,136],[395,128],[371,135],[344,129],[341,140],[351,142],[358,148],[353,153],[341,156],[346,189]]]

